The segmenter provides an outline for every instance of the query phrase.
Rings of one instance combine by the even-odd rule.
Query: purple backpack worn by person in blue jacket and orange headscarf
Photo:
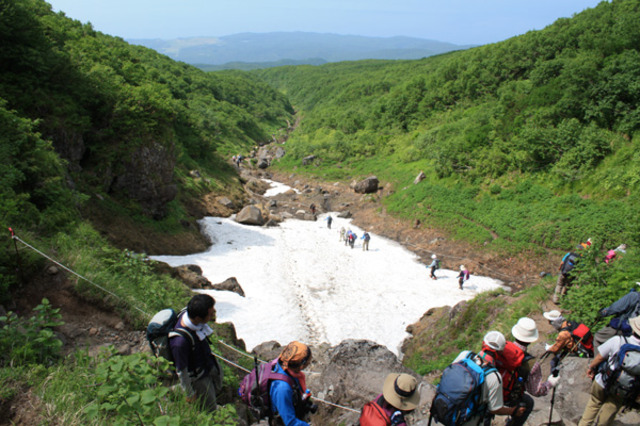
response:
[[[278,363],[278,358],[271,362],[258,364],[258,359],[254,358],[255,367],[240,382],[238,395],[247,404],[249,411],[260,420],[271,417],[271,398],[269,398],[269,387],[274,380],[287,382],[296,393],[299,387],[297,383],[288,375],[273,371]]]

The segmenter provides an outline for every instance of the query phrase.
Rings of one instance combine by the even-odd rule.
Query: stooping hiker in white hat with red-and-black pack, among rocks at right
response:
[[[553,310],[542,314],[549,324],[558,330],[558,337],[553,345],[546,345],[545,350],[555,356],[551,359],[554,370],[567,355],[593,358],[593,336],[586,325],[565,319],[560,311]]]

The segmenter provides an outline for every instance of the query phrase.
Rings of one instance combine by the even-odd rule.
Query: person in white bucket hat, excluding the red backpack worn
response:
[[[505,404],[507,406],[519,406],[526,407],[525,414],[521,417],[510,418],[507,422],[508,426],[522,426],[531,411],[533,410],[534,402],[531,396],[527,395],[529,393],[532,396],[544,396],[549,393],[550,389],[553,389],[558,384],[558,377],[549,376],[546,381],[542,380],[542,368],[538,362],[536,362],[535,358],[527,353],[527,348],[530,343],[538,340],[538,327],[536,326],[536,322],[531,318],[523,317],[518,320],[518,322],[511,328],[511,334],[513,335],[515,341],[507,343],[507,346],[510,348],[509,353],[519,353],[518,357],[520,364],[510,372],[511,377],[515,374],[515,379],[520,382],[520,377],[522,379],[522,383],[524,385],[523,389],[517,389],[517,385],[511,385],[511,387],[507,383],[503,383],[505,386],[505,393],[507,397],[505,398]],[[507,351],[505,350],[506,354]],[[501,373],[503,373],[501,371]],[[505,374],[503,373],[503,377]],[[514,379],[514,381],[515,381]]]

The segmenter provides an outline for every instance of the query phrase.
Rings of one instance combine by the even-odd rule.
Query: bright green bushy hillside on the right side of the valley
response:
[[[282,167],[376,174],[389,210],[497,250],[637,244],[639,19],[638,1],[603,2],[464,52],[254,75],[303,117]]]

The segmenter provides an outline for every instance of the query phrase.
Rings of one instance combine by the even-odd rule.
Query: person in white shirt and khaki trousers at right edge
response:
[[[631,318],[629,325],[632,330],[631,336],[613,336],[598,346],[596,357],[589,363],[587,367],[587,377],[593,379],[593,383],[591,384],[591,398],[584,408],[584,413],[582,413],[582,418],[578,426],[611,425],[618,411],[620,411],[623,406],[626,406],[630,400],[635,401],[635,398],[638,396],[637,388],[635,389],[636,394],[625,395],[626,392],[616,386],[617,373],[621,373],[620,378],[625,377],[625,374],[627,378],[630,376],[626,372],[620,372],[619,363],[616,364],[615,362],[618,358],[618,353],[625,344],[640,345],[640,317]],[[637,354],[637,352],[635,352],[635,354]],[[626,363],[627,358],[631,357],[623,358]],[[607,368],[600,370],[598,367],[603,362],[607,363]],[[635,365],[637,365],[637,363]],[[633,379],[633,376],[631,378]]]

